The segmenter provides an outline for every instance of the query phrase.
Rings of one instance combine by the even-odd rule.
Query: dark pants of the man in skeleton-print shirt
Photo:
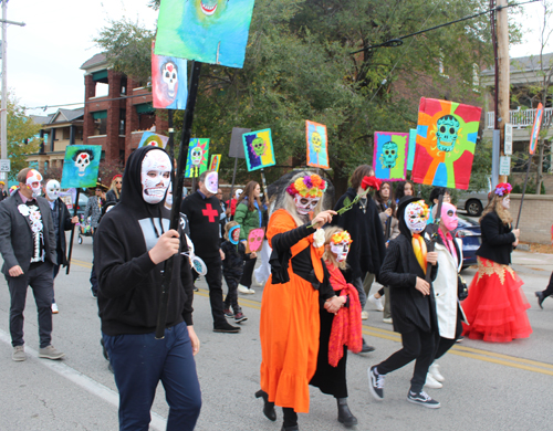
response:
[[[33,290],[34,302],[39,314],[40,348],[48,347],[52,340],[52,297],[54,296],[53,265],[50,262],[31,266],[23,275],[12,277],[6,275],[10,290],[10,335],[11,345],[22,346],[23,311],[25,309],[27,290]]]

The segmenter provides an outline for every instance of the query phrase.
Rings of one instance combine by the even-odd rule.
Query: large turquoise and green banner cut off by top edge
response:
[[[242,67],[254,0],[161,0],[156,54]]]

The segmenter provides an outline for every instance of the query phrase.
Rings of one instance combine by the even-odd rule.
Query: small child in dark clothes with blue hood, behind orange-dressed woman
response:
[[[222,275],[229,288],[225,298],[225,315],[229,318],[234,317],[236,323],[248,320],[238,305],[238,284],[242,277],[243,263],[250,259],[255,259],[255,252],[246,253],[246,245],[240,241],[240,224],[236,221],[229,221],[225,225],[225,241],[221,244],[225,253],[222,261]],[[230,308],[232,307],[232,312]]]

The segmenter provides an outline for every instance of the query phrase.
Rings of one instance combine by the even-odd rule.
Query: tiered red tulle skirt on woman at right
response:
[[[508,265],[478,257],[478,272],[462,309],[470,325],[462,335],[471,339],[509,343],[532,334],[526,309],[530,304],[520,288],[524,283]]]

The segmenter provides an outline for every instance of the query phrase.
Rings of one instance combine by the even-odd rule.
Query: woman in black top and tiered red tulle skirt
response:
[[[526,316],[530,304],[521,290],[524,283],[510,266],[520,234],[519,229],[511,227],[511,190],[510,183],[499,183],[480,218],[482,245],[477,251],[478,272],[462,303],[469,322],[463,324],[463,335],[471,339],[509,343],[532,334]]]

